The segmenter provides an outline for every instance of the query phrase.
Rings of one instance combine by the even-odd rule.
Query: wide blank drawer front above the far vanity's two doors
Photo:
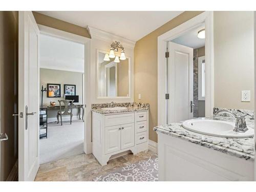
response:
[[[134,113],[106,115],[105,126],[120,125],[134,122]]]

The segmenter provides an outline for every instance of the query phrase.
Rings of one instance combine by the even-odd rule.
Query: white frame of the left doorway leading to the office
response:
[[[84,104],[87,106],[91,106],[91,100],[90,100],[90,91],[86,91],[87,89],[90,90],[90,50],[91,50],[91,39],[88,37],[83,37],[80,35],[76,35],[73,33],[69,33],[66,31],[61,31],[55,28],[47,27],[44,25],[37,24],[39,28],[39,35],[44,34],[44,35],[50,35],[53,37],[58,37],[62,38],[65,40],[70,40],[70,41],[75,41],[79,42],[80,44],[84,45],[84,75],[85,77],[83,78],[85,82],[83,82],[83,98],[84,98]],[[40,68],[40,67],[39,67]],[[38,74],[39,75],[39,74]],[[40,94],[39,94],[40,97]],[[85,109],[85,116],[84,119],[87,119],[87,117],[90,117],[91,114],[91,107],[86,107]],[[90,123],[90,121],[89,121]],[[83,151],[86,154],[91,153],[91,125],[88,123],[87,120],[84,121],[84,140],[83,140]]]

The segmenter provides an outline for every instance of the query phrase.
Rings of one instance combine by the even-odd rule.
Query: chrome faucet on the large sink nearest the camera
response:
[[[237,115],[229,110],[220,110],[216,113],[216,115],[220,114],[220,113],[227,113],[230,114],[234,119],[236,119],[236,126],[234,127],[233,131],[234,132],[246,132],[248,130],[246,122],[245,122],[245,116],[247,114],[244,115]]]

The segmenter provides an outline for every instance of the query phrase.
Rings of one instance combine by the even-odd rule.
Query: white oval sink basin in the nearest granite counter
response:
[[[254,130],[248,127],[245,133],[234,132],[234,123],[210,119],[190,119],[182,123],[182,126],[196,133],[229,138],[246,138],[254,135]]]

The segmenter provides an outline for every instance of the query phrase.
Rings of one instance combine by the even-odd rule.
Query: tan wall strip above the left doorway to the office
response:
[[[48,27],[55,28],[62,31],[66,31],[69,33],[83,36],[83,37],[91,38],[86,28],[83,28],[68,22],[64,22],[63,20],[59,20],[57,18],[53,18],[41,13],[37,13],[35,11],[33,11],[33,15],[35,17],[37,24],[48,26]]]

